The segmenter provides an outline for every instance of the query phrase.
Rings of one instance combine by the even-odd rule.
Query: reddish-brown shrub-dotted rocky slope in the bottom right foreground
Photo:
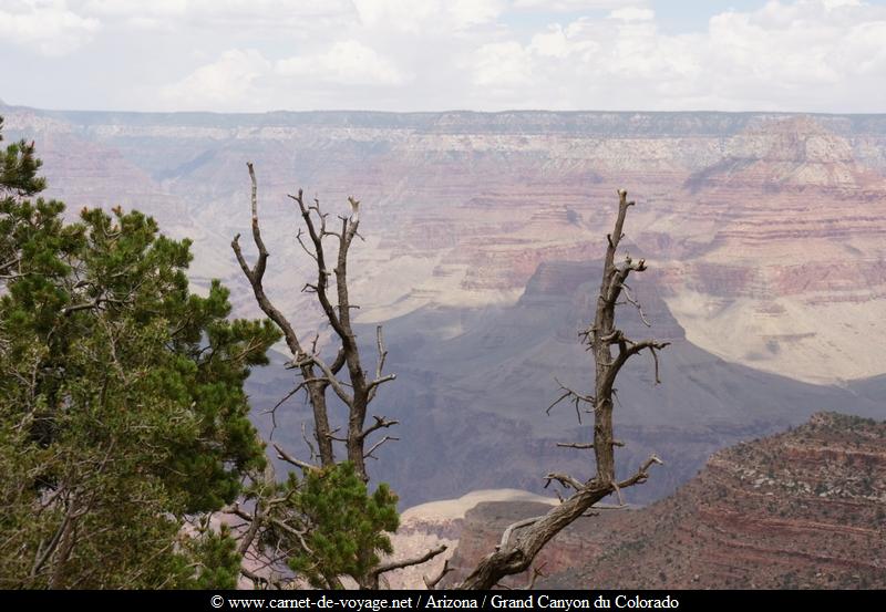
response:
[[[883,589],[884,475],[886,423],[818,413],[785,434],[717,453],[667,499],[574,523],[539,558],[547,578],[537,584]],[[539,511],[514,504],[468,511],[452,560],[460,573],[451,579],[491,550],[506,525]]]

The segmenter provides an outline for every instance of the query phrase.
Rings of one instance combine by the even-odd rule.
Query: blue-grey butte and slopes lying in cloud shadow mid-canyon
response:
[[[596,262],[545,263],[513,307],[425,308],[385,323],[398,382],[380,397],[384,414],[401,422],[402,442],[381,449],[375,475],[405,504],[476,488],[543,492],[542,476],[553,467],[590,476],[585,454],[556,447],[557,442],[588,442],[590,415],[583,414],[579,423],[569,404],[549,415],[545,408],[558,396],[555,377],[578,390],[593,387],[593,360],[578,342],[578,330],[593,312],[598,270]],[[626,442],[618,450],[625,476],[650,453],[668,464],[658,478],[629,494],[631,501],[669,495],[715,450],[800,424],[821,407],[884,414],[882,382],[857,390],[811,385],[698,349],[669,313],[659,281],[650,271],[632,286],[651,329],[630,307],[619,314],[631,338],[672,342],[661,353],[661,384],[655,384],[648,355],[632,360],[618,381],[615,418],[617,436]],[[433,330],[450,333],[440,338]],[[372,331],[361,336],[369,342]],[[297,443],[298,421],[281,425],[287,428]]]

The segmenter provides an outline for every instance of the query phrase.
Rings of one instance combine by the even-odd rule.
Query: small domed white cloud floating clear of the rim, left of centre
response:
[[[408,79],[393,62],[356,40],[337,42],[323,53],[280,60],[275,68],[284,76],[342,85],[400,85]]]

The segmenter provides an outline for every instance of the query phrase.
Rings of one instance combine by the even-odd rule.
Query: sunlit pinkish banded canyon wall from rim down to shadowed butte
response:
[[[627,187],[630,249],[655,260],[690,341],[805,381],[884,373],[859,349],[886,341],[883,115],[2,112],[39,139],[51,195],[146,208],[195,237],[200,278],[241,283],[228,242],[248,227],[247,159],[287,271],[307,262],[285,193],[330,211],[357,195],[367,322],[513,303],[539,263],[597,257]],[[272,273],[297,307],[300,283]]]

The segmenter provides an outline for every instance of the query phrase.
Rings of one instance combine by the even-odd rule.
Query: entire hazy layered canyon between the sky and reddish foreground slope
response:
[[[587,457],[555,446],[586,442],[589,415],[545,408],[555,376],[593,384],[577,332],[593,315],[619,187],[637,201],[624,243],[650,268],[632,287],[652,328],[627,308],[627,330],[672,342],[662,384],[642,359],[619,381],[619,465],[651,452],[666,460],[629,501],[670,495],[717,450],[823,408],[886,417],[886,115],[0,115],[8,139],[38,142],[48,197],[72,215],[140,208],[192,238],[195,287],[220,278],[238,315],[258,314],[229,247],[249,227],[251,160],[266,287],[303,334],[321,315],[301,292],[312,261],[286,195],[303,187],[333,217],[348,195],[360,199],[352,302],[368,350],[384,325],[398,381],[373,407],[401,422],[372,474],[403,507],[475,489],[543,492],[554,467],[590,476]],[[266,434],[267,408],[295,384],[285,360],[250,377]],[[308,414],[287,403],[275,439],[307,453]]]

